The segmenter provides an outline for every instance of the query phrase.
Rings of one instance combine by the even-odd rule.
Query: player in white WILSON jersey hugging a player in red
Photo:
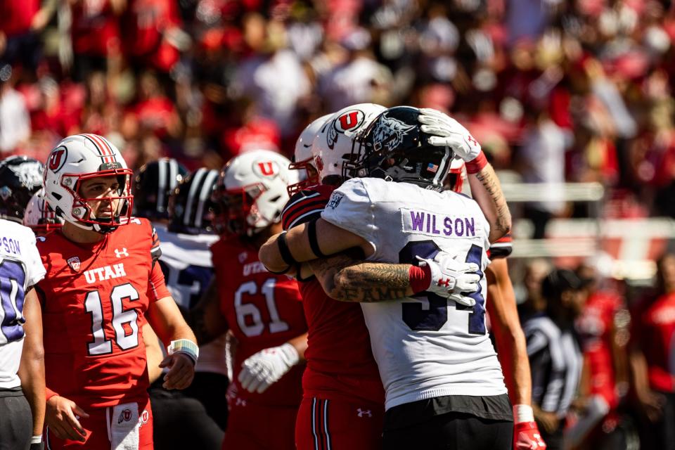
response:
[[[509,449],[513,418],[485,326],[483,271],[489,244],[508,231],[510,215],[473,136],[437,117],[417,108],[385,110],[343,166],[344,176],[368,178],[346,181],[333,191],[321,219],[270,240],[261,257],[271,270],[349,248],[361,249],[371,261],[432,267],[450,258],[477,264],[480,290],[467,294],[470,302],[429,291],[381,302],[375,290],[349,282],[364,271],[359,264],[321,283],[333,298],[362,302],[386,390],[385,449]],[[489,212],[497,214],[485,214],[484,200],[479,206],[442,192],[453,150],[468,160],[470,174],[480,174],[475,178],[494,207]],[[284,264],[265,257],[275,245]],[[390,284],[400,281],[392,276]]]

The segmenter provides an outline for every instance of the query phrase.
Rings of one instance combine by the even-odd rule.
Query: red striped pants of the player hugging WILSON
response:
[[[384,416],[384,405],[368,401],[302,399],[295,445],[297,450],[381,449]]]

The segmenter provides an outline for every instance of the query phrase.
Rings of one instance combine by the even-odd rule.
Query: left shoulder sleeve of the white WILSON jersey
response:
[[[361,236],[377,250],[377,227],[366,186],[361,179],[350,179],[333,191],[321,218],[341,229]]]

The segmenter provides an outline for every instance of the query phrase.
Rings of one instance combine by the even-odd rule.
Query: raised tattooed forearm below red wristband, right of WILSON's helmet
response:
[[[511,213],[501,191],[499,178],[492,165],[487,164],[476,174],[468,174],[471,195],[476,200],[490,224],[490,242],[494,242],[511,229]]]

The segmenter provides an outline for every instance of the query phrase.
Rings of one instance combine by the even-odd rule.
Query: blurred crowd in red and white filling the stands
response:
[[[0,0],[0,156],[79,131],[131,167],[290,155],[310,120],[411,104],[525,182],[675,217],[675,6],[657,0]],[[552,195],[555,194],[551,187]],[[560,201],[525,214],[584,215]],[[587,212],[585,213],[587,214]]]

